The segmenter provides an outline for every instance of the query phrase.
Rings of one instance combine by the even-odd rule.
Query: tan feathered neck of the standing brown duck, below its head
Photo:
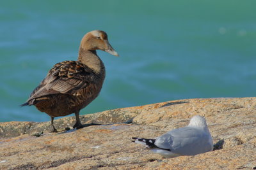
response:
[[[96,50],[84,50],[84,48],[80,47],[77,61],[90,67],[95,73],[104,71],[104,64],[97,55]]]

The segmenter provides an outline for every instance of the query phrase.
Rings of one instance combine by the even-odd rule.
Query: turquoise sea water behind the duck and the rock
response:
[[[1,1],[0,122],[44,122],[20,108],[47,71],[106,31],[120,57],[81,114],[174,99],[256,96],[256,1]],[[14,1],[13,1],[14,2]]]

